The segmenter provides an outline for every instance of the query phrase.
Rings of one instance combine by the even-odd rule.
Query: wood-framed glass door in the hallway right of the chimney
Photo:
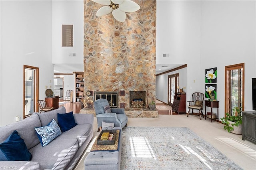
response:
[[[172,106],[174,94],[179,86],[179,73],[168,75],[168,105]]]

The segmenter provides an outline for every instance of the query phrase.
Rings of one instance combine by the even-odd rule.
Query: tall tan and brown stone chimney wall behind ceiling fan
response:
[[[97,17],[104,5],[84,1],[84,91],[125,91],[118,95],[125,108],[130,91],[156,99],[156,0],[134,2],[140,10],[126,12],[122,23],[112,13]]]

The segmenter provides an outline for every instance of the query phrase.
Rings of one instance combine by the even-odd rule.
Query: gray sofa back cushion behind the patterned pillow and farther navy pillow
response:
[[[58,117],[57,117],[57,113],[67,113],[66,109],[64,106],[58,108],[58,109],[54,109],[52,111],[48,111],[48,112],[44,112],[44,113],[36,113],[41,121],[41,126],[47,126],[49,122],[52,121],[52,119],[54,119],[57,123],[58,123]]]

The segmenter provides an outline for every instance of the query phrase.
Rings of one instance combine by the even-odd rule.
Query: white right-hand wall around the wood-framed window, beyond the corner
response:
[[[244,110],[252,110],[252,77],[256,77],[256,1],[202,2],[202,71],[217,67],[220,117],[225,107],[225,66],[244,63]],[[213,15],[214,14],[214,15]]]

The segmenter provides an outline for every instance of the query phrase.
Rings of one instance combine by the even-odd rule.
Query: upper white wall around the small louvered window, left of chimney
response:
[[[73,25],[73,47],[62,47],[62,25]],[[84,1],[52,1],[52,63],[84,62]],[[76,57],[70,57],[76,53]]]

